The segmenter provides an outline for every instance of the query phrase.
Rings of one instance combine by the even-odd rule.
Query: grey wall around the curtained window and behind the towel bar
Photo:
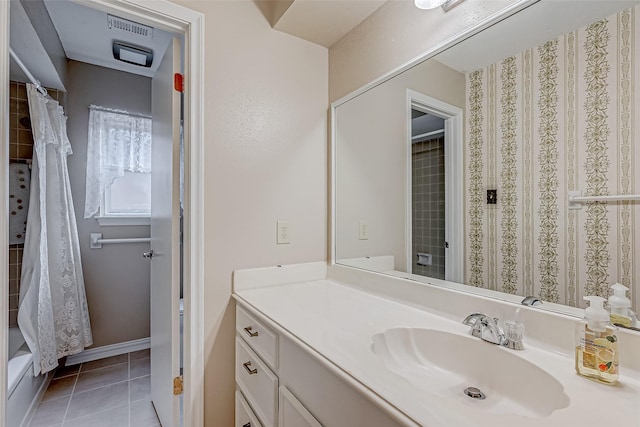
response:
[[[66,98],[67,134],[73,154],[69,179],[78,222],[93,346],[149,336],[149,261],[142,252],[148,243],[90,248],[90,234],[105,238],[149,236],[148,226],[100,227],[84,218],[89,105],[151,115],[151,79],[82,62],[69,61]]]

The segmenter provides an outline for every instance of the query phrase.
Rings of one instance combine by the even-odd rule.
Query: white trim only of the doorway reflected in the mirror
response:
[[[407,89],[407,176],[406,176],[406,254],[407,272],[413,267],[413,232],[412,232],[412,196],[411,196],[411,110],[418,109],[425,113],[445,119],[445,240],[449,247],[445,249],[445,280],[462,282],[464,262],[464,170],[463,170],[463,110],[432,98],[420,92]]]

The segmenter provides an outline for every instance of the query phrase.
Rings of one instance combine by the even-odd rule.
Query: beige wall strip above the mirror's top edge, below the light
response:
[[[469,0],[445,13],[389,1],[329,49],[335,101],[518,0]]]

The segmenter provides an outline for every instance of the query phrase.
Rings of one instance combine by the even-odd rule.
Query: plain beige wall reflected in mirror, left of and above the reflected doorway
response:
[[[432,59],[337,107],[337,259],[393,255],[406,270],[407,89],[464,108],[464,82]]]

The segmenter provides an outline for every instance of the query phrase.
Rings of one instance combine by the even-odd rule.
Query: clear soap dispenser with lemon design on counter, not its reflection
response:
[[[576,372],[583,377],[606,384],[618,382],[618,338],[609,323],[605,299],[585,296],[589,307],[578,324],[576,334]]]

